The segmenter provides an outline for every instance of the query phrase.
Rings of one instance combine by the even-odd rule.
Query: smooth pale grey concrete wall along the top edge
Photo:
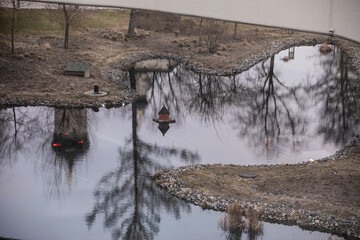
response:
[[[360,0],[45,0],[172,12],[328,34],[360,42]]]

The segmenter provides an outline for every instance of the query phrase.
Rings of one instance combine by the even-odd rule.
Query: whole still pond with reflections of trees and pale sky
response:
[[[140,98],[121,108],[0,110],[0,236],[226,239],[223,213],[174,198],[151,176],[323,158],[360,132],[359,79],[335,47],[285,50],[231,77],[181,65],[129,76]],[[163,105],[175,123],[153,121]],[[265,223],[258,239],[329,236]]]

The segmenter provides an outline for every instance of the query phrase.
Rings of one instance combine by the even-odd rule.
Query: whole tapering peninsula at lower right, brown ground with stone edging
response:
[[[243,207],[252,206],[265,221],[358,239],[359,170],[357,137],[342,150],[314,162],[269,166],[191,165],[158,173],[155,178],[171,194],[203,208],[226,211],[229,204],[237,201]],[[237,176],[241,171],[255,172],[258,177],[241,179]],[[275,175],[279,178],[274,178]],[[229,181],[229,177],[234,180]],[[328,180],[333,185],[328,186]],[[343,185],[353,192],[339,200],[340,195],[336,194],[344,191]],[[332,191],[333,196],[329,194]],[[349,204],[349,199],[355,202]]]

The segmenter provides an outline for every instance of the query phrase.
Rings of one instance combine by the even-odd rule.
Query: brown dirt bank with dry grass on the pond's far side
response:
[[[118,32],[104,29],[82,29],[70,34],[69,49],[63,48],[63,36],[15,35],[15,55],[11,54],[8,36],[0,35],[0,96],[31,100],[87,101],[84,92],[100,86],[109,94],[103,101],[121,95],[124,87],[109,81],[107,72],[122,59],[139,52],[188,55],[208,69],[222,69],[239,64],[272,41],[294,38],[304,33],[285,30],[250,28],[230,37],[216,54],[204,52],[196,34],[138,31],[138,37],[124,37],[126,29]],[[200,52],[203,53],[200,53]],[[68,62],[91,64],[91,77],[64,76]]]

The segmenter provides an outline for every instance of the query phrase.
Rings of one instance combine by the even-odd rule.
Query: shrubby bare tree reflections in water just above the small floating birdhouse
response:
[[[241,84],[235,77],[197,74],[182,66],[171,73],[152,73],[149,81],[148,96],[154,112],[165,104],[172,113],[188,113],[206,123],[221,122],[226,106],[242,98]],[[181,122],[180,116],[177,121]]]

